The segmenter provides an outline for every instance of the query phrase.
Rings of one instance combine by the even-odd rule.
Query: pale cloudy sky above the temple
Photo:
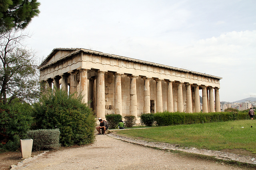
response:
[[[220,101],[256,95],[256,0],[38,0],[25,29],[42,62],[83,48],[218,77]]]

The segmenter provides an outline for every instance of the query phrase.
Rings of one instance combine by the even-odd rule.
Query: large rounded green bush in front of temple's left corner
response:
[[[82,96],[50,90],[34,104],[36,129],[60,129],[62,146],[84,145],[94,141],[96,122]]]

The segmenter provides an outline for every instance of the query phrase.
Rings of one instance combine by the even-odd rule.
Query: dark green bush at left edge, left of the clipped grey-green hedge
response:
[[[4,105],[0,101],[0,151],[15,151],[20,147],[20,139],[32,124],[32,107],[29,104],[12,102]]]

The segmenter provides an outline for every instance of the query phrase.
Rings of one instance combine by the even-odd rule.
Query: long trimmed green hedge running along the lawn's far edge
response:
[[[170,113],[164,111],[161,113],[154,114],[154,121],[158,126],[169,126],[169,125],[187,125],[196,123],[211,123],[220,121],[231,121],[231,120],[244,120],[249,119],[247,112],[213,112],[213,113]]]

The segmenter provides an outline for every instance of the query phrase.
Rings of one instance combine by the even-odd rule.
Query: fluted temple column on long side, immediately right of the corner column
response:
[[[98,71],[97,116],[105,118],[105,72]]]

